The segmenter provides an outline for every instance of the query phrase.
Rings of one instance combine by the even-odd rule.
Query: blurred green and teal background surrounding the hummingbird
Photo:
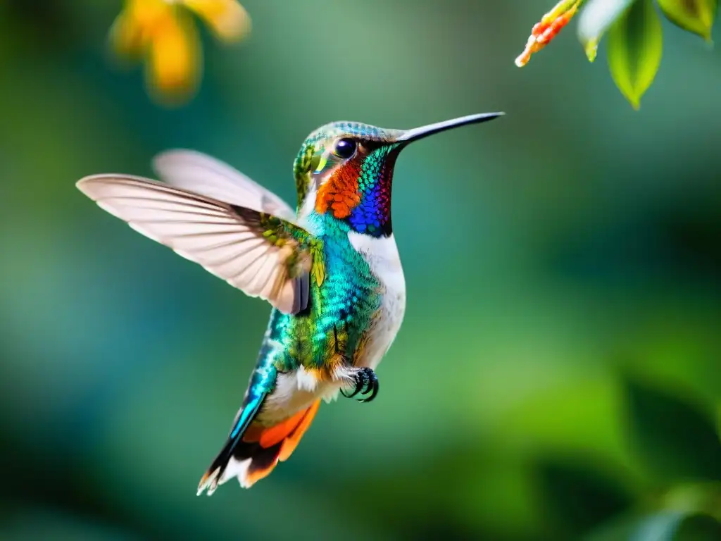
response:
[[[182,107],[109,61],[120,1],[0,5],[0,539],[721,539],[720,51],[664,21],[634,112],[575,30],[514,66],[547,0],[242,3]],[[399,159],[378,399],[195,496],[270,308],[76,180],[184,147],[293,203],[317,126],[495,110]]]

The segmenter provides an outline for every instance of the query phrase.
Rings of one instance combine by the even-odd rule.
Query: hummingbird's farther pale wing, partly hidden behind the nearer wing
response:
[[[153,159],[160,180],[176,188],[295,221],[296,213],[278,195],[228,164],[194,150],[168,150]]]

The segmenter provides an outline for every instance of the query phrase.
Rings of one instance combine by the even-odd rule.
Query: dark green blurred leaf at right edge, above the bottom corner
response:
[[[676,396],[627,381],[629,438],[663,480],[721,480],[721,441],[714,423]]]

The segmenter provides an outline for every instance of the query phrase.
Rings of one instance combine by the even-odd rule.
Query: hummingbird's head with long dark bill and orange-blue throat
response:
[[[355,122],[321,126],[306,138],[293,166],[298,207],[332,214],[355,232],[387,237],[392,233],[391,188],[399,152],[433,133],[500,115],[469,115],[410,130]]]

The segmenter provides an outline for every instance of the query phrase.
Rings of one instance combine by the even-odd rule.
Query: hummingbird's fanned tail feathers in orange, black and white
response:
[[[301,441],[318,411],[320,400],[292,417],[273,426],[257,421],[244,430],[233,431],[213,464],[200,479],[198,496],[208,490],[208,496],[218,485],[237,477],[243,488],[270,475],[278,461],[285,462]],[[241,415],[242,416],[242,415]]]

